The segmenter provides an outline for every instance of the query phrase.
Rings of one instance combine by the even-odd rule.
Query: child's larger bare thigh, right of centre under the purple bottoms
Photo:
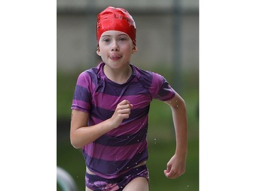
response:
[[[132,179],[123,191],[149,191],[148,181],[145,177]]]

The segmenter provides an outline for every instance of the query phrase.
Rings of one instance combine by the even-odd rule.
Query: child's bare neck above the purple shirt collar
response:
[[[109,78],[109,80],[117,84],[126,83],[132,75],[132,67],[130,67],[130,65],[122,69],[111,69],[107,65],[104,65],[103,71],[106,77]]]

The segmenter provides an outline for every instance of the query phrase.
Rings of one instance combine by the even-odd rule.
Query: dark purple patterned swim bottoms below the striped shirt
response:
[[[137,177],[145,177],[147,181],[149,181],[150,176],[146,165],[130,169],[127,173],[113,179],[106,179],[98,175],[86,173],[85,185],[87,188],[94,191],[121,191],[132,179]]]

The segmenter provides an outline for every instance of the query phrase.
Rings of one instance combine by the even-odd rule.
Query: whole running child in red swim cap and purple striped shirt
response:
[[[179,177],[186,169],[184,100],[162,75],[130,63],[136,27],[126,10],[107,7],[98,14],[96,39],[102,62],[79,75],[71,107],[70,141],[83,148],[85,190],[149,190],[146,138],[153,99],[171,107],[176,150],[163,170],[167,178]]]

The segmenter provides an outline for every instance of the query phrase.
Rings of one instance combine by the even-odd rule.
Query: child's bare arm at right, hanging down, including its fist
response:
[[[167,163],[167,169],[164,173],[167,178],[175,179],[184,174],[186,170],[186,153],[188,151],[186,105],[177,92],[175,92],[173,99],[165,101],[165,103],[170,105],[173,114],[176,150],[173,157]]]

